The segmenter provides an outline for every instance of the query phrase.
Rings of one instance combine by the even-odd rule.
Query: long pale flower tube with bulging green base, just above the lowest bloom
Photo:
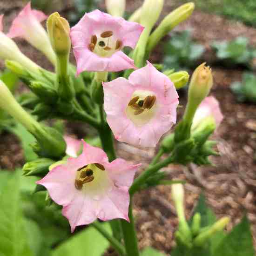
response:
[[[15,100],[7,86],[0,80],[0,108],[19,121],[34,135],[37,144],[34,146],[41,156],[60,157],[65,154],[66,143],[55,129],[42,126],[29,115]]]

